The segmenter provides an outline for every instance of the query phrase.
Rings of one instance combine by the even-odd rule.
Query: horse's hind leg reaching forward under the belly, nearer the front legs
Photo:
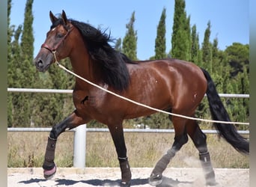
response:
[[[152,173],[150,174],[149,183],[151,186],[156,186],[162,183],[162,172],[167,167],[168,163],[175,156],[177,151],[186,144],[188,141],[188,136],[186,134],[186,119],[180,117],[172,117],[172,122],[174,123],[175,137],[174,144],[170,150],[162,156],[161,159],[156,163],[155,168],[153,168]]]

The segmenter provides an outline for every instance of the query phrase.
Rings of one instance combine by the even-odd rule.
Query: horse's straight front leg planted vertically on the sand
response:
[[[109,131],[112,135],[115,149],[118,153],[118,160],[121,168],[121,186],[130,186],[130,180],[132,179],[131,170],[129,168],[129,162],[127,157],[127,147],[124,141],[124,130],[122,125],[109,126]]]

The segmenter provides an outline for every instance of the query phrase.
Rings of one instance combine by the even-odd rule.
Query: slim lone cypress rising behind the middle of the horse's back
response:
[[[156,41],[155,41],[155,58],[156,59],[166,58],[165,18],[166,18],[166,9],[164,8],[162,10],[161,18],[157,26],[157,34],[156,34]]]

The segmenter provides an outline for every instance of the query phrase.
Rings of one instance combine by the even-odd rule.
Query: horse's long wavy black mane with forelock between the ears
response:
[[[127,63],[132,63],[132,61],[109,45],[109,42],[113,41],[110,34],[84,22],[73,19],[69,19],[69,21],[80,31],[85,47],[93,61],[93,67],[100,69],[102,81],[118,91],[124,91],[129,86]],[[64,25],[62,19],[54,22],[51,28],[59,24]]]

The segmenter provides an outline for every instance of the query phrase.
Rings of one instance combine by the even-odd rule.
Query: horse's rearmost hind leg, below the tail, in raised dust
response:
[[[207,186],[215,186],[215,174],[210,162],[210,154],[207,150],[207,136],[204,135],[204,132],[201,131],[198,123],[195,120],[189,120],[189,123],[186,125],[186,129],[190,138],[192,138],[195,147],[199,151],[199,159],[204,170]]]

